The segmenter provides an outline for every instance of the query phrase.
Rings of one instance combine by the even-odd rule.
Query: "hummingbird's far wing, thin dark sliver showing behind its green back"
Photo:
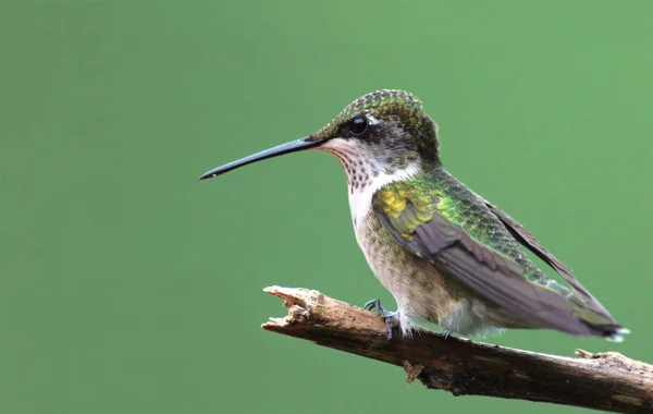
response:
[[[506,229],[508,229],[508,231],[513,234],[515,240],[517,240],[529,251],[534,253],[538,257],[544,260],[544,263],[551,266],[558,275],[560,275],[567,281],[567,283],[569,283],[569,285],[571,285],[571,288],[582,296],[582,299],[586,302],[593,305],[594,312],[603,314],[603,316],[609,317],[609,313],[607,312],[607,309],[605,309],[605,307],[603,307],[603,305],[601,305],[599,301],[596,301],[594,296],[592,296],[592,294],[588,292],[588,290],[584,289],[582,284],[580,284],[578,279],[576,279],[576,277],[571,272],[571,269],[569,269],[563,261],[560,261],[557,257],[555,257],[546,248],[544,248],[544,246],[542,246],[540,242],[538,242],[538,240],[528,230],[526,230],[523,226],[521,226],[517,220],[515,220],[505,211],[501,210],[488,200],[484,202],[488,208],[490,208],[490,211],[492,211],[496,217],[498,217],[498,219],[504,223]]]

